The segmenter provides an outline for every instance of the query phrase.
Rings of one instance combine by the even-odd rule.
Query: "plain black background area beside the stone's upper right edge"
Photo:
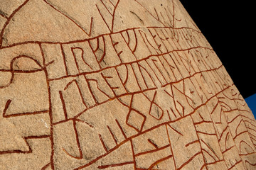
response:
[[[256,94],[253,1],[180,0],[244,98]]]

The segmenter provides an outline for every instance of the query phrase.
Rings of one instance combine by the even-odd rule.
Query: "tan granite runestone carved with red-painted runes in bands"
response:
[[[255,169],[255,118],[178,0],[1,0],[0,30],[0,169]]]

